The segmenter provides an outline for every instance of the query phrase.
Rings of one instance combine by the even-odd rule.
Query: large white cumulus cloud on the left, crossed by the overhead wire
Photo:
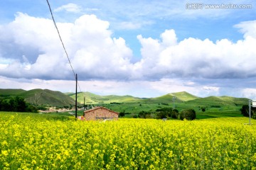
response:
[[[75,72],[84,79],[127,79],[132,50],[123,38],[111,38],[109,23],[84,15],[75,23],[57,23]],[[0,29],[1,75],[28,79],[73,79],[53,21],[17,13]],[[5,65],[2,65],[5,64]]]

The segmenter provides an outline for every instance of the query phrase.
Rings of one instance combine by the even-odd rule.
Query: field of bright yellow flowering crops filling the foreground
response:
[[[0,113],[0,169],[255,169],[256,121]]]

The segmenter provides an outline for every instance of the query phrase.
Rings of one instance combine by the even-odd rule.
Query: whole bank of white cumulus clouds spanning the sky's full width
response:
[[[57,23],[73,69],[80,79],[151,80],[255,77],[256,21],[236,27],[244,39],[178,41],[175,30],[159,39],[138,35],[142,58],[132,63],[124,38],[112,38],[110,23],[83,15],[74,23]],[[17,13],[15,21],[0,27],[1,76],[26,79],[73,79],[53,22]],[[217,87],[218,88],[218,87]],[[212,89],[214,90],[214,88]]]

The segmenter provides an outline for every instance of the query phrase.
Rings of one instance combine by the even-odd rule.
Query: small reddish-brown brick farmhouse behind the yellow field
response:
[[[118,115],[119,113],[111,111],[110,109],[104,107],[95,107],[90,110],[84,111],[85,120],[118,120]]]

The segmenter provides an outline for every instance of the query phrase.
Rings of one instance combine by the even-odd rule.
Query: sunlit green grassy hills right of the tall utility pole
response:
[[[233,98],[229,96],[209,96],[206,98],[199,98],[188,94],[185,91],[166,94],[156,98],[135,98],[133,96],[99,96],[85,92],[78,94],[78,101],[83,102],[83,97],[86,96],[87,104],[98,104],[112,109],[113,111],[137,114],[140,111],[156,111],[157,108],[171,107],[178,111],[186,108],[193,108],[198,116],[203,118],[218,117],[216,114],[240,115],[240,108],[247,104],[247,98]],[[173,97],[176,97],[175,102]],[[75,96],[72,96],[75,98]],[[113,103],[116,102],[116,103]],[[111,104],[110,104],[111,103]],[[203,112],[201,108],[206,108]]]

